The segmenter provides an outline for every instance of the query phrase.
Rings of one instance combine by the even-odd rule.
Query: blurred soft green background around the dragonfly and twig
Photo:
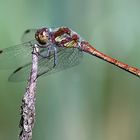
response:
[[[68,26],[98,50],[140,67],[139,0],[1,0],[0,49],[28,28]],[[14,63],[14,62],[13,62]],[[26,82],[0,70],[0,140],[16,140]],[[38,80],[33,140],[139,140],[140,79],[84,55]]]

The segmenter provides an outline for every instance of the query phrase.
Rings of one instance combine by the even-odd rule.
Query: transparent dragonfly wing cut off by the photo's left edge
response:
[[[32,46],[35,41],[0,50],[0,69],[17,68],[31,62]]]

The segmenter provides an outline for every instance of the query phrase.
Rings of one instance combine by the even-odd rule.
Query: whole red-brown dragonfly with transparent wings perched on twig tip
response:
[[[31,70],[31,55],[35,45],[39,48],[37,77],[78,65],[83,52],[140,77],[140,69],[96,50],[68,27],[28,29],[22,36],[22,42],[22,44],[0,50],[0,68],[15,69],[8,78],[11,82],[27,79]]]

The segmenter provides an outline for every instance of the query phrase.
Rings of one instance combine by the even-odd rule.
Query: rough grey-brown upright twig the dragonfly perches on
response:
[[[31,73],[21,105],[20,140],[30,140],[32,138],[32,129],[35,123],[35,93],[38,71],[38,51],[39,50],[35,45],[32,52]]]

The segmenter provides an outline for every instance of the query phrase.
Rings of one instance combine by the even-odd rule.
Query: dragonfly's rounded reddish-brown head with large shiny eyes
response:
[[[35,33],[35,38],[41,45],[45,45],[49,40],[48,28],[42,28],[37,30],[37,32]]]

